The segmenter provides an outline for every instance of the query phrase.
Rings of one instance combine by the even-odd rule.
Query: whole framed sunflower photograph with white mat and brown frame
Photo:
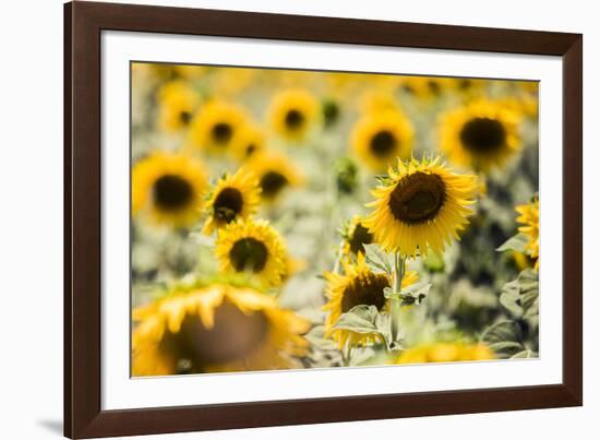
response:
[[[64,435],[583,404],[583,36],[64,7]]]

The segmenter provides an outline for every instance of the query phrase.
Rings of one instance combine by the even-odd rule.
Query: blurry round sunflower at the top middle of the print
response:
[[[320,109],[319,102],[305,90],[287,90],[275,95],[271,103],[271,126],[288,141],[302,141],[316,126]]]

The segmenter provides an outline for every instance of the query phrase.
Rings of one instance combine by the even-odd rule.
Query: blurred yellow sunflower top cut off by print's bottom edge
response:
[[[408,348],[394,359],[394,364],[456,362],[492,360],[496,356],[484,344],[433,343]]]

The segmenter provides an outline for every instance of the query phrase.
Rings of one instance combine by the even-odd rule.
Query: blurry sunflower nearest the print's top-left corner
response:
[[[163,85],[158,92],[158,126],[169,132],[188,128],[200,102],[200,95],[183,81]]]

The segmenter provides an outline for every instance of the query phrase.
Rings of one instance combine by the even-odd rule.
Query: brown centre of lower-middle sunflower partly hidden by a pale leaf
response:
[[[346,313],[357,306],[375,306],[377,310],[385,306],[383,289],[389,287],[389,280],[383,274],[368,273],[353,278],[344,290],[341,312]]]

